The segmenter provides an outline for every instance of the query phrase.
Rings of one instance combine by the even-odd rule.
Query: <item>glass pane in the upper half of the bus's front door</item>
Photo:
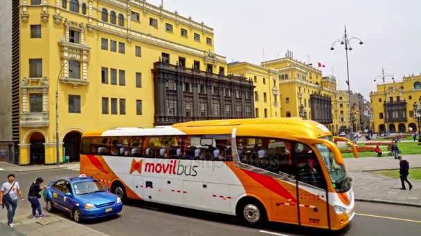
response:
[[[298,180],[317,188],[325,189],[325,179],[319,160],[310,146],[296,143],[294,155],[298,166]]]

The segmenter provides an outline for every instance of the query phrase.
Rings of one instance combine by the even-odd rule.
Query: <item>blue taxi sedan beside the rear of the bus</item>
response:
[[[70,213],[75,222],[116,215],[123,209],[120,197],[109,193],[92,177],[69,177],[51,181],[44,191],[46,209]]]

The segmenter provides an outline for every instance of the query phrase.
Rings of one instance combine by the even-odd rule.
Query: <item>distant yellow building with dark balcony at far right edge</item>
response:
[[[377,90],[370,92],[375,132],[409,132],[409,127],[418,130],[413,104],[420,97],[421,75],[377,83]]]

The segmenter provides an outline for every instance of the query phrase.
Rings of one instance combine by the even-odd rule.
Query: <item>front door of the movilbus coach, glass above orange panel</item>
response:
[[[329,228],[326,181],[314,150],[296,143],[294,157],[298,169],[298,213],[300,224]]]

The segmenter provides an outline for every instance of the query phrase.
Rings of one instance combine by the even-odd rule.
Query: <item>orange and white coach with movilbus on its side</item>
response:
[[[298,118],[191,121],[82,136],[80,173],[141,199],[339,230],[354,217],[352,179],[332,137]]]

